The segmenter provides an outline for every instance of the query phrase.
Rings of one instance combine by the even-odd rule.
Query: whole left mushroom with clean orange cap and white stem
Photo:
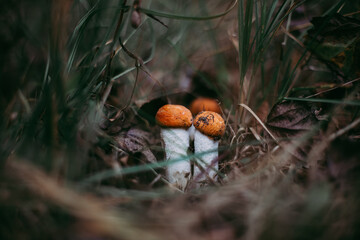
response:
[[[165,145],[166,160],[179,159],[187,155],[192,115],[181,105],[164,105],[156,113],[156,122],[161,126],[161,137]],[[184,190],[190,179],[191,165],[188,161],[169,164],[166,175],[171,184]]]

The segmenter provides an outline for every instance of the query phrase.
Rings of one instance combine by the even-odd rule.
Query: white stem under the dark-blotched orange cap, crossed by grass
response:
[[[197,161],[197,164],[200,165],[204,170],[208,170],[206,174],[203,173],[202,177],[198,179],[199,182],[206,180],[206,175],[215,180],[216,171],[213,169],[219,169],[218,163],[215,163],[211,168],[209,168],[209,166],[211,165],[212,161],[218,157],[219,140],[215,141],[214,139],[202,134],[198,130],[195,130],[194,139],[195,154],[199,154],[200,156],[197,158],[201,159],[201,161]],[[199,167],[194,167],[195,178],[201,174],[201,172],[202,171]]]

